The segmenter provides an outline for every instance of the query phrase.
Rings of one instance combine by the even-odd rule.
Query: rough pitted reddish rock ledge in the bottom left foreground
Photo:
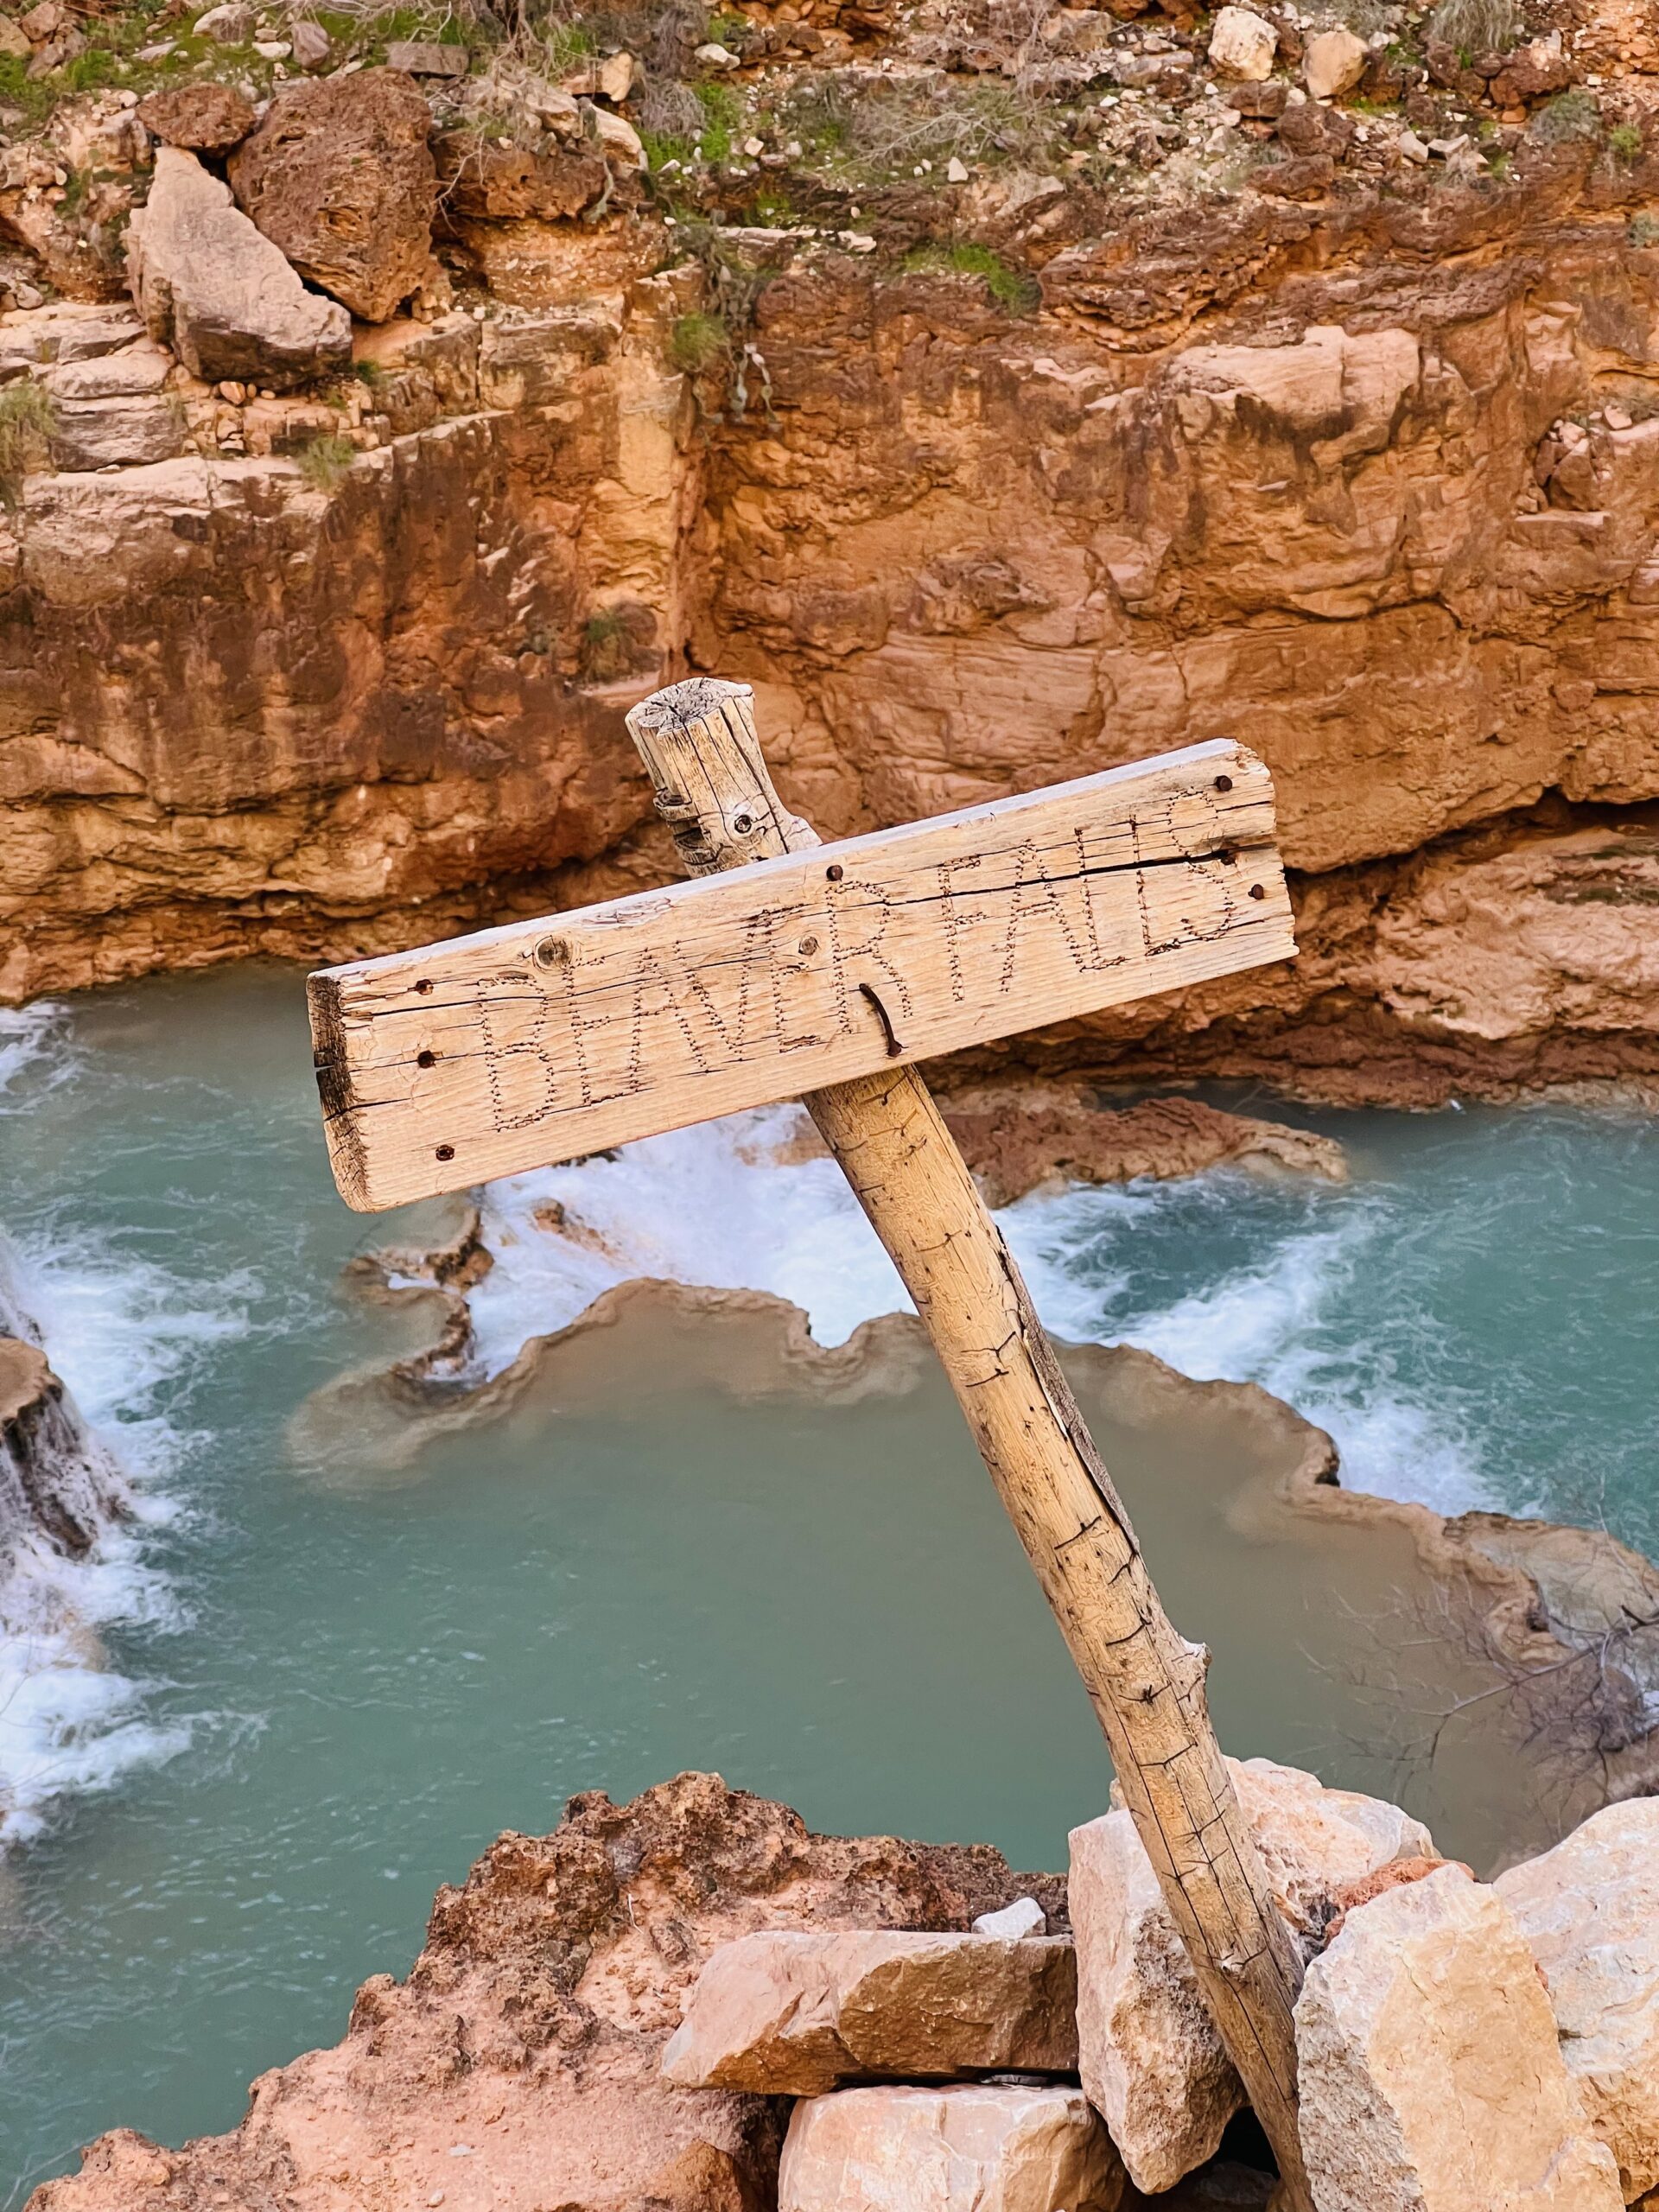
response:
[[[462,2212],[759,2212],[785,2108],[659,2081],[710,1951],[765,1927],[964,1931],[1057,1876],[1000,1854],[810,1836],[783,1805],[681,1774],[630,1805],[571,1801],[551,1836],[502,1836],[442,1889],[409,1980],[358,1991],[345,2042],[254,2084],[232,2135],[157,2150],[117,2130],[33,2212],[292,2212],[354,2201]],[[456,2143],[471,2159],[451,2157]]]

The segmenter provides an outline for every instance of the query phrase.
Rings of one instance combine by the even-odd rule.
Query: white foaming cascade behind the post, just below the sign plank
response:
[[[633,1276],[774,1292],[803,1307],[823,1345],[876,1314],[909,1312],[836,1166],[792,1157],[807,1130],[796,1106],[774,1106],[489,1186],[482,1230],[495,1267],[471,1292],[478,1369],[498,1374],[529,1336],[564,1327]],[[1261,1383],[1329,1429],[1352,1489],[1442,1513],[1491,1502],[1455,1416],[1398,1383],[1387,1345],[1354,1347],[1334,1318],[1354,1272],[1385,1254],[1387,1192],[1332,1192],[1312,1225],[1250,1265],[1166,1305],[1135,1303],[1137,1239],[1155,1239],[1194,1190],[1225,1194],[1237,1175],[1073,1186],[1006,1208],[1002,1228],[1048,1327],[1075,1343],[1141,1345],[1199,1380]],[[566,1228],[549,1232],[557,1208]]]

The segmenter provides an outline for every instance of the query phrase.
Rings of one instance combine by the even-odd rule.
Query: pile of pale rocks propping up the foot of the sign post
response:
[[[1659,2179],[1659,1803],[1478,1882],[1396,1805],[1234,1765],[1298,1933],[1316,2212],[1619,2212]],[[717,1951],[677,2088],[794,2097],[781,2212],[1117,2212],[1243,2104],[1126,1812],[1071,1838],[1073,1938],[765,1929]]]

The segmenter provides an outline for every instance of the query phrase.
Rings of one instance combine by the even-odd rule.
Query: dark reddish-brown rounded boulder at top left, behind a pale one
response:
[[[385,323],[431,252],[431,111],[396,69],[288,84],[230,157],[241,208],[310,283]]]

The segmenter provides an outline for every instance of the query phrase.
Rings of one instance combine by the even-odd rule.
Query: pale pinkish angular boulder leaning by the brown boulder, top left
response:
[[[157,148],[126,265],[150,336],[204,383],[288,389],[352,358],[345,307],[307,292],[228,186],[179,146]]]

